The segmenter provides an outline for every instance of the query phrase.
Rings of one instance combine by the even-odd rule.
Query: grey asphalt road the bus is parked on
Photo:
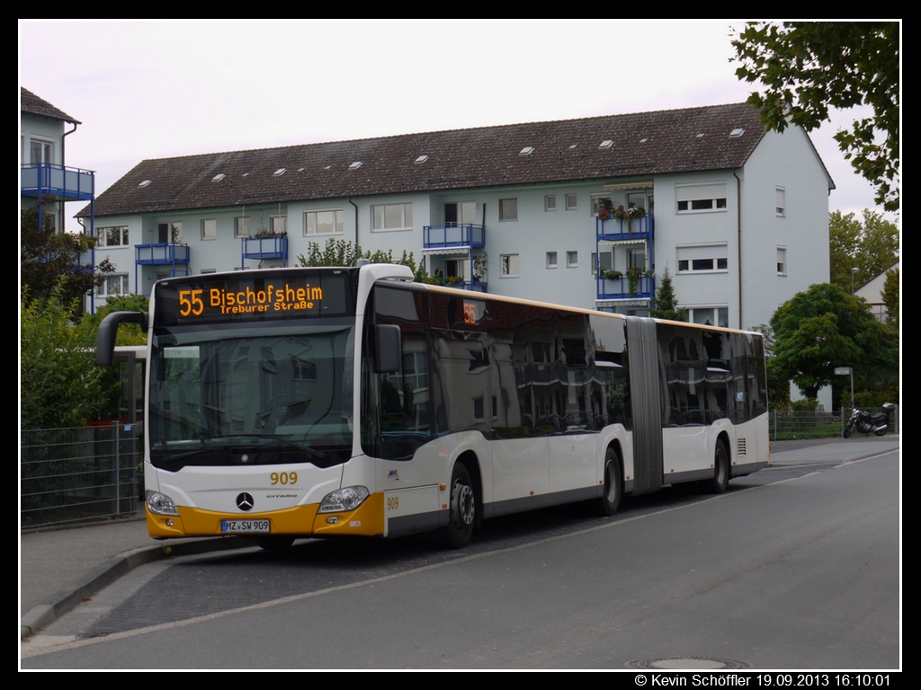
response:
[[[138,569],[23,646],[23,668],[606,668],[706,658],[895,669],[899,455],[780,467],[432,538]]]

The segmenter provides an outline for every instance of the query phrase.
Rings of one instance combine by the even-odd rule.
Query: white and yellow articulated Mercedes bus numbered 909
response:
[[[441,530],[768,463],[758,333],[412,282],[409,269],[278,269],[156,283],[146,520],[158,539]]]

